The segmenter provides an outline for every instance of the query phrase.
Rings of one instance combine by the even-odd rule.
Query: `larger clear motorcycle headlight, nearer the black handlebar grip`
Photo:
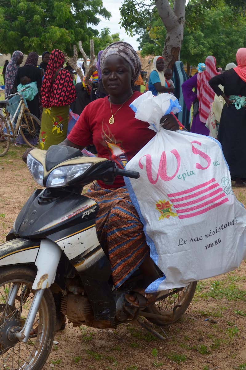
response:
[[[47,188],[58,188],[67,186],[70,181],[76,179],[92,165],[92,163],[76,164],[71,166],[61,166],[53,169],[46,181]]]

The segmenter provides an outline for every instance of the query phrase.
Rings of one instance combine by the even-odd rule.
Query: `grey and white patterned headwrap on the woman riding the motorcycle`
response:
[[[124,41],[116,41],[105,48],[101,55],[101,68],[107,57],[110,55],[118,55],[124,58],[132,67],[132,79],[136,81],[139,74],[141,73],[141,61],[134,48]]]

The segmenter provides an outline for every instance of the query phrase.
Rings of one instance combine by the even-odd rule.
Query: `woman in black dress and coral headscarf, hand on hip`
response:
[[[238,66],[209,81],[215,94],[222,96],[225,105],[221,113],[218,140],[229,165],[235,186],[244,186],[246,178],[246,48],[236,53]],[[219,85],[224,86],[224,92]]]

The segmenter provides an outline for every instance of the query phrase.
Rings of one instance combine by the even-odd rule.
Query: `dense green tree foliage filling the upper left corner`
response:
[[[73,45],[82,41],[84,51],[90,53],[90,39],[100,38],[97,26],[98,16],[105,19],[111,13],[105,9],[102,0],[6,0],[0,2],[0,51],[24,53],[59,48],[68,55]],[[108,31],[102,37],[109,38]],[[117,38],[116,35],[111,38]],[[98,41],[97,40],[97,41]],[[98,41],[95,51],[101,49]]]

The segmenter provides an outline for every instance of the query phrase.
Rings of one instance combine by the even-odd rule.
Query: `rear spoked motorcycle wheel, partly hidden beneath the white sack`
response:
[[[183,289],[168,290],[169,296],[153,305],[147,307],[144,312],[153,314],[152,317],[146,317],[150,322],[156,325],[173,324],[186,312],[191,300],[193,299],[197,282],[192,282]]]

